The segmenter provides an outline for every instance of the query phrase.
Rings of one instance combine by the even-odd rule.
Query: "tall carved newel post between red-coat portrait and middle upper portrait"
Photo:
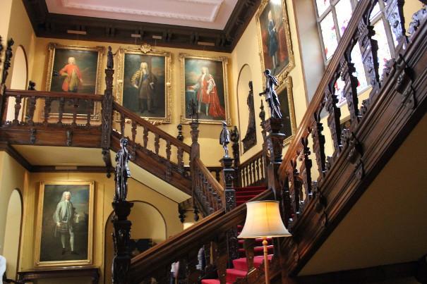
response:
[[[111,176],[112,161],[109,154],[111,146],[112,126],[113,126],[113,75],[114,75],[114,58],[112,47],[108,47],[107,52],[107,69],[105,69],[105,91],[102,99],[102,159],[107,167],[107,177]]]

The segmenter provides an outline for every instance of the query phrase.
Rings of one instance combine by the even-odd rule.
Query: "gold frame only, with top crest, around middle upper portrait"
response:
[[[123,106],[123,87],[124,87],[124,58],[126,54],[137,54],[141,56],[162,56],[164,57],[164,117],[157,116],[140,116],[140,118],[149,121],[153,125],[163,123],[172,123],[171,121],[171,87],[172,87],[172,54],[169,51],[161,51],[152,49],[150,44],[141,44],[138,48],[128,47],[120,48],[118,52],[117,76],[116,76],[116,91],[115,99],[118,104]],[[116,118],[120,120],[119,117]]]

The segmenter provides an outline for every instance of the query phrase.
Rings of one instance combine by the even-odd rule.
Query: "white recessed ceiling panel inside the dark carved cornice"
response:
[[[223,30],[238,0],[46,0],[50,13]]]

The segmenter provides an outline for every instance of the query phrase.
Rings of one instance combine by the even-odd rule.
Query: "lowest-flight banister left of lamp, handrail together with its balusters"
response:
[[[252,199],[272,199],[271,191],[265,191],[258,197]],[[205,247],[206,269],[215,268],[217,272],[212,278],[225,281],[225,270],[227,268],[227,244],[225,233],[227,230],[241,225],[246,218],[246,205],[242,204],[225,214],[224,209],[203,218],[200,222],[184,230],[182,233],[171,237],[169,240],[148,249],[134,257],[131,261],[129,278],[131,283],[140,283],[145,279],[155,278],[157,281],[167,278],[171,264],[174,261],[182,263],[198,264],[197,254],[201,247]],[[210,251],[212,249],[212,256]],[[248,248],[249,249],[249,248]],[[209,257],[210,256],[210,257]],[[211,261],[211,257],[213,262]],[[209,271],[198,270],[195,265],[186,265],[186,279],[188,283],[197,283],[198,278],[203,277]],[[160,283],[163,283],[160,281]],[[166,282],[164,282],[166,283]]]

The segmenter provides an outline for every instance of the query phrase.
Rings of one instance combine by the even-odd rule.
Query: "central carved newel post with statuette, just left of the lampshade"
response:
[[[227,123],[222,123],[221,134],[219,135],[219,144],[224,148],[224,156],[219,160],[222,166],[222,178],[224,180],[224,200],[225,211],[229,212],[236,208],[236,191],[234,190],[234,167],[233,158],[229,156],[227,144],[230,142],[230,132]],[[239,258],[237,228],[227,230],[227,254],[229,256],[228,266],[232,267],[233,259]]]

